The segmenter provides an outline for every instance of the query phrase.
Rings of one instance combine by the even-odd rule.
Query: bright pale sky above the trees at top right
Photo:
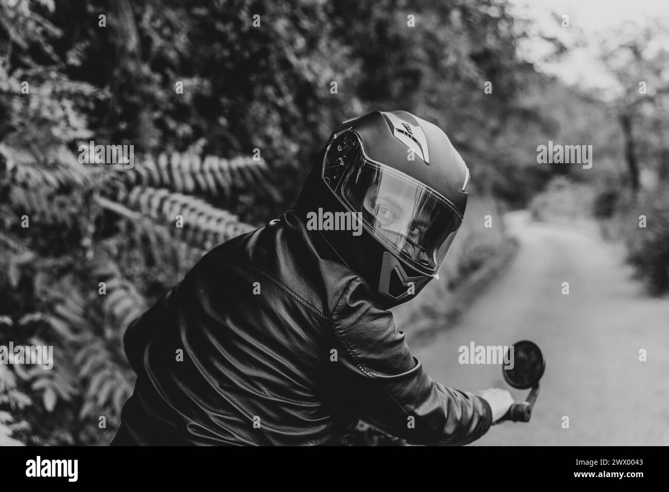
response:
[[[597,62],[595,42],[606,36],[612,28],[626,21],[643,22],[644,19],[666,19],[669,25],[669,0],[510,0],[514,17],[531,21],[532,31],[555,35],[570,46],[581,38],[589,46],[573,50],[567,58],[557,63],[541,61],[545,45],[530,39],[521,45],[521,54],[535,62],[544,72],[555,74],[569,84],[589,88],[611,88],[615,82]],[[561,19],[569,15],[571,27],[562,27],[552,13]],[[664,43],[664,41],[662,41]],[[669,50],[669,42],[666,43]]]

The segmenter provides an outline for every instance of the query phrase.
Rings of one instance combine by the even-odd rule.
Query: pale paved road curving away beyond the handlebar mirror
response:
[[[520,241],[512,264],[457,326],[413,349],[432,378],[476,391],[510,388],[500,366],[460,365],[460,345],[541,347],[547,369],[532,421],[493,426],[474,444],[669,444],[669,301],[646,297],[619,251],[587,232],[523,214],[507,222]]]

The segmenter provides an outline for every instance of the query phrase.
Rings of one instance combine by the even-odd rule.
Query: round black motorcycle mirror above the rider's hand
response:
[[[526,390],[537,386],[545,367],[546,361],[537,344],[521,340],[508,347],[502,362],[502,374],[509,386]]]

